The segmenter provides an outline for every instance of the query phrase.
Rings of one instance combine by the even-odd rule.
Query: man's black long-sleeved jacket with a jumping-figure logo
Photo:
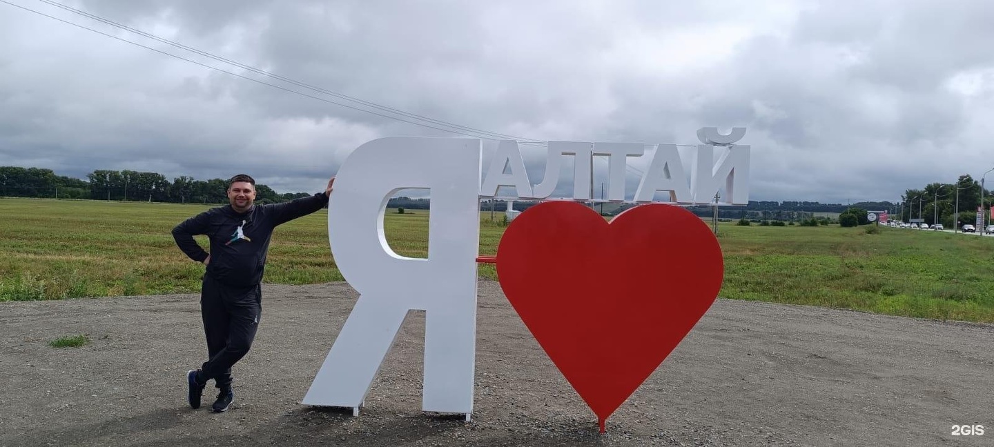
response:
[[[262,281],[273,228],[314,213],[327,204],[328,196],[318,193],[282,204],[253,205],[241,214],[226,205],[176,225],[173,238],[187,256],[203,262],[208,252],[193,236],[207,234],[211,241],[211,262],[206,274],[228,286],[250,287]]]

